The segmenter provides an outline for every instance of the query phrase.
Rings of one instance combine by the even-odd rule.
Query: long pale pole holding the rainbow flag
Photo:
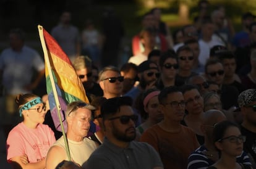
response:
[[[48,72],[49,72],[49,79],[51,81],[51,86],[53,88],[54,100],[55,100],[55,103],[56,103],[56,109],[57,109],[57,112],[58,112],[59,122],[61,123],[61,130],[62,130],[62,135],[63,135],[65,146],[66,146],[67,157],[71,161],[70,151],[69,151],[69,144],[67,144],[67,137],[66,137],[66,133],[65,133],[65,130],[64,130],[62,119],[61,119],[61,113],[60,113],[61,104],[59,104],[58,93],[57,93],[57,89],[56,89],[56,86],[55,86],[55,83],[54,83],[53,72],[51,71],[51,64],[49,62],[48,50],[47,50],[47,47],[46,47],[46,44],[45,44],[45,38],[43,36],[43,27],[41,25],[38,25],[38,32],[39,32],[39,36],[40,36],[41,46],[43,48],[43,53],[45,55],[45,63],[47,65]]]

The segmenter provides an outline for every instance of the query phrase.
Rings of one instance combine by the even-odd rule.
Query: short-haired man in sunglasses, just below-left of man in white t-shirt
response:
[[[179,61],[179,72],[176,75],[176,80],[184,85],[190,77],[198,75],[192,72],[195,59],[194,52],[189,46],[184,45],[177,50],[177,57]]]

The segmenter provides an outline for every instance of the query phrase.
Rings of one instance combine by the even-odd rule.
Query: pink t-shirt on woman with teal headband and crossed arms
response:
[[[30,163],[46,158],[49,147],[56,141],[48,125],[39,124],[35,129],[19,123],[9,133],[6,141],[7,160],[27,154]]]

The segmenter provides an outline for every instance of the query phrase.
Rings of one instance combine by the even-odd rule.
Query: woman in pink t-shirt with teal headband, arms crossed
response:
[[[18,105],[23,122],[15,126],[6,141],[7,160],[13,168],[45,168],[49,147],[56,141],[45,121],[45,105],[35,94],[19,94]]]

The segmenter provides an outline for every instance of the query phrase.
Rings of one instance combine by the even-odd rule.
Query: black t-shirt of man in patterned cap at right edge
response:
[[[241,133],[243,136],[246,136],[246,140],[244,142],[244,150],[248,154],[252,155],[254,161],[256,162],[256,133],[247,130],[241,125]]]

